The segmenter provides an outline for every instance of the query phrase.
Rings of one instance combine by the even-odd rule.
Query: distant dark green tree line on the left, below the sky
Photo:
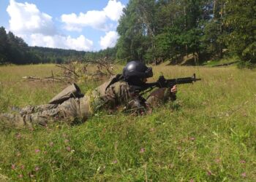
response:
[[[0,27],[0,64],[69,63],[74,60],[116,59],[116,48],[98,52],[63,50],[48,47],[29,47],[23,39]]]

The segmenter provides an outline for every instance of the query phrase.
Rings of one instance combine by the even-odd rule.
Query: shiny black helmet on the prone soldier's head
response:
[[[152,68],[147,67],[138,60],[132,60],[124,66],[123,76],[125,80],[129,79],[146,79],[153,76]]]

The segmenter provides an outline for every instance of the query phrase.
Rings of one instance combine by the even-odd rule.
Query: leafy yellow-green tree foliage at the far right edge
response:
[[[256,1],[227,1],[227,45],[241,60],[256,63]]]

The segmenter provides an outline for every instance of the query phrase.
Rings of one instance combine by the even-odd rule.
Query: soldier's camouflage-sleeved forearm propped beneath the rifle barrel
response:
[[[159,106],[168,100],[176,100],[176,95],[173,95],[169,88],[159,88],[154,90],[146,99],[147,103],[151,106]]]

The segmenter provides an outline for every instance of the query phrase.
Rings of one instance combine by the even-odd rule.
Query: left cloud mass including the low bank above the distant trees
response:
[[[52,17],[40,12],[35,4],[10,0],[7,12],[10,15],[10,31],[22,37],[31,46],[92,50],[93,41],[83,35],[75,39],[71,36],[59,35]]]

